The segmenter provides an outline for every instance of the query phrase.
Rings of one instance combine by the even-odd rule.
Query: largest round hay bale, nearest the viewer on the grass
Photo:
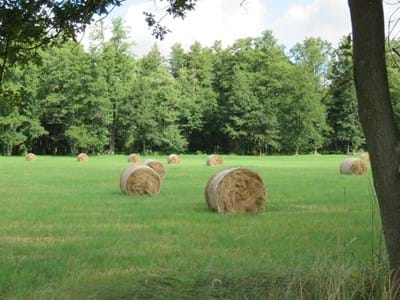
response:
[[[267,197],[260,175],[244,168],[216,173],[209,180],[205,194],[208,208],[218,213],[260,212]]]

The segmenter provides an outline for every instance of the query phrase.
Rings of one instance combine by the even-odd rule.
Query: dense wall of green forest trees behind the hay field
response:
[[[395,43],[396,41],[392,41]],[[4,155],[216,152],[349,153],[365,147],[352,41],[307,38],[287,50],[270,31],[229,47],[154,46],[137,58],[121,19],[90,47],[37,50],[9,68],[0,94]],[[400,73],[388,54],[400,121]]]

